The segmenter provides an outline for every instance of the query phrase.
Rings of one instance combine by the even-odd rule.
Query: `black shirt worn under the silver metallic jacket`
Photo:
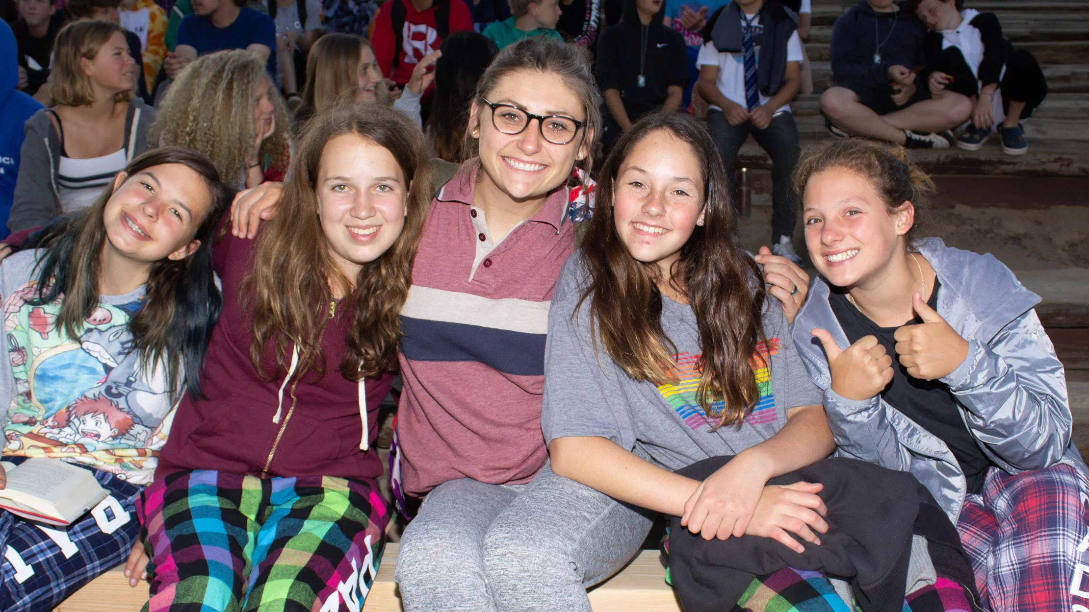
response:
[[[938,308],[940,288],[941,283],[934,278],[934,291],[928,301],[932,309]],[[892,382],[881,391],[881,398],[920,427],[941,438],[960,464],[968,480],[968,492],[979,492],[983,488],[991,461],[980,450],[976,438],[968,433],[949,385],[940,380],[920,380],[907,374],[907,369],[901,365],[896,355],[896,340],[893,336],[898,327],[879,327],[847,300],[846,293],[835,289],[829,295],[829,303],[852,344],[864,336],[876,336],[893,358]],[[916,319],[907,325],[916,323],[921,321]]]

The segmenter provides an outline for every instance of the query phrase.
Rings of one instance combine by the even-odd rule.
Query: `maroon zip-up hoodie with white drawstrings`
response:
[[[325,376],[318,378],[313,372],[292,376],[283,389],[279,422],[273,422],[280,386],[287,373],[281,367],[272,380],[258,376],[249,360],[253,327],[238,301],[238,287],[250,270],[254,252],[254,240],[230,234],[216,247],[223,310],[212,330],[200,376],[206,399],[186,396],[178,407],[159,455],[156,478],[181,470],[219,470],[261,477],[378,478],[382,463],[372,444],[378,437],[378,404],[389,392],[392,376],[366,379],[367,439],[371,444],[363,451],[358,384],[340,373],[351,320],[344,300],[337,303],[321,337]],[[328,315],[328,309],[314,313]],[[272,349],[267,349],[266,363],[273,362],[272,354]]]

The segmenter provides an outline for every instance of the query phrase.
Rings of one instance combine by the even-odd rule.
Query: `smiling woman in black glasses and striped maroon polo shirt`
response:
[[[589,611],[649,529],[554,475],[540,428],[549,303],[588,212],[568,178],[599,108],[582,49],[505,48],[469,108],[476,157],[431,201],[401,311],[401,487],[424,498],[397,559],[407,612]]]

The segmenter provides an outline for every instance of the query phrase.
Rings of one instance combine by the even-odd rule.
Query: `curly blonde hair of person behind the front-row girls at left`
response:
[[[223,182],[245,182],[246,152],[256,135],[254,92],[265,77],[265,62],[237,49],[197,58],[182,71],[159,105],[148,134],[158,146],[193,149],[212,161]],[[291,155],[287,110],[272,87],[276,129],[265,139],[259,159],[286,168]]]

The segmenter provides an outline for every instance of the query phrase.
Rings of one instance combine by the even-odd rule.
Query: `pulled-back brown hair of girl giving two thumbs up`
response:
[[[842,167],[866,177],[881,195],[889,214],[896,214],[904,202],[911,202],[915,221],[904,236],[908,250],[914,250],[919,238],[930,233],[934,182],[907,159],[907,151],[900,145],[868,138],[833,138],[807,147],[794,168],[794,188],[798,196],[805,195],[806,184],[812,175],[831,167]]]

